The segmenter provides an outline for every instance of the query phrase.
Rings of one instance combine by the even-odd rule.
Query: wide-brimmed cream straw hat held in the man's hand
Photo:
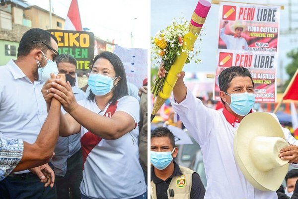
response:
[[[234,156],[246,180],[262,191],[276,191],[288,172],[289,160],[278,157],[289,146],[275,115],[246,115],[234,135]]]

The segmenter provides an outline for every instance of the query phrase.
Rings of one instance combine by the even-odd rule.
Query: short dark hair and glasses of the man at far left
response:
[[[17,57],[26,56],[35,48],[39,48],[43,53],[46,53],[49,48],[45,44],[53,47],[51,45],[51,38],[58,44],[57,38],[46,30],[40,28],[32,28],[28,30],[21,38],[17,49]],[[33,43],[33,41],[42,41],[45,44],[41,42]]]

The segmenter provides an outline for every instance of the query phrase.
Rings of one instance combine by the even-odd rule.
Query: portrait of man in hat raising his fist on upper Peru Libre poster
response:
[[[242,32],[245,31],[245,25],[241,21],[236,21],[234,24],[229,26],[230,30],[234,35],[225,34],[225,27],[228,21],[224,21],[222,28],[220,30],[220,37],[226,45],[226,49],[229,50],[248,50],[248,45],[244,37],[242,37]]]

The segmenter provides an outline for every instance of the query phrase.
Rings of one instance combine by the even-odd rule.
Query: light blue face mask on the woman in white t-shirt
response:
[[[88,79],[88,85],[95,96],[104,96],[111,92],[116,78],[110,78],[99,73],[91,73]]]

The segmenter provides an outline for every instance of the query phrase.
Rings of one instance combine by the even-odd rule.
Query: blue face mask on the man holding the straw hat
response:
[[[225,93],[225,92],[224,92]],[[226,95],[229,95],[225,93]],[[234,113],[245,116],[249,113],[255,102],[255,95],[247,92],[240,94],[231,94],[231,103],[226,103]]]

